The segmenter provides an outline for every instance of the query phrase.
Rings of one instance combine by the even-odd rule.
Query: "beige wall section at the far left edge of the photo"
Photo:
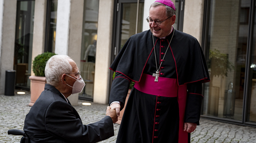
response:
[[[6,70],[13,69],[14,47],[15,47],[15,23],[16,23],[16,0],[1,1],[3,7],[1,29],[2,41],[0,45],[0,94],[4,93]]]

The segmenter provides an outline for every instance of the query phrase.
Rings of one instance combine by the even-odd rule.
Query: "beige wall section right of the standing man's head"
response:
[[[199,43],[202,37],[202,21],[204,13],[204,1],[185,1],[183,32],[194,36]]]

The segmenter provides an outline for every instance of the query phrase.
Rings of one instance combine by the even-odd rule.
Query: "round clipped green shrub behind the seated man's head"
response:
[[[37,55],[33,60],[32,70],[36,76],[45,76],[45,66],[47,60],[49,60],[53,55],[56,55],[51,52],[45,52],[40,55]]]

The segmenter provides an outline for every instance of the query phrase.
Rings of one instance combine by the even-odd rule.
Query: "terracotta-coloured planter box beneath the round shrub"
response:
[[[30,76],[30,103],[28,106],[33,106],[42,91],[45,90],[46,78],[44,76]]]

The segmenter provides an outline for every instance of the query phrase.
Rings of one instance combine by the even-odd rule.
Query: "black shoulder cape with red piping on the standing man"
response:
[[[175,59],[178,85],[200,80],[202,83],[210,81],[204,53],[196,38],[175,30],[170,47]],[[150,30],[132,35],[120,50],[110,69],[139,82],[152,50],[153,41]]]

